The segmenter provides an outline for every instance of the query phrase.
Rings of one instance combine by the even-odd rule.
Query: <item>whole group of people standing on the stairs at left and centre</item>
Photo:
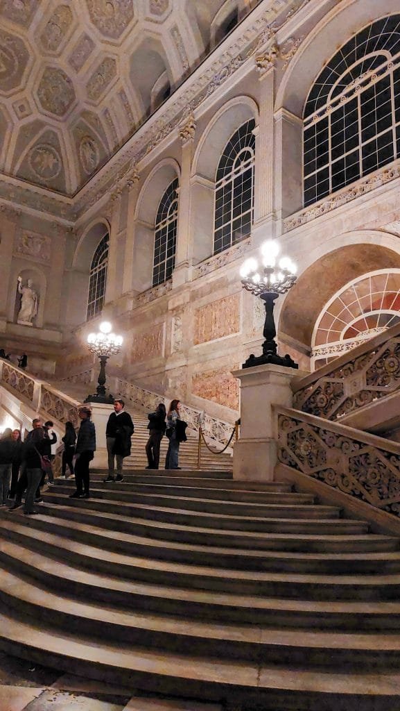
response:
[[[124,458],[131,453],[131,436],[134,423],[124,410],[124,400],[114,400],[114,412],[109,416],[106,428],[108,474],[106,482],[123,481],[122,467]],[[72,422],[65,424],[62,438],[64,449],[62,456],[62,475],[75,477],[76,490],[70,498],[90,498],[90,461],[96,451],[96,429],[92,422],[92,410],[82,406],[78,410],[80,427],[75,431]],[[0,506],[6,506],[13,500],[9,510],[23,505],[23,513],[38,513],[35,503],[43,501],[40,488],[48,477],[48,485],[54,483],[52,460],[55,457],[57,435],[53,431],[53,422],[43,424],[40,417],[33,419],[33,429],[28,432],[24,442],[19,429],[5,429],[0,439]],[[149,437],[146,443],[148,458],[147,469],[158,469],[160,445],[164,435],[168,437],[166,469],[180,469],[178,455],[180,442],[185,442],[187,425],[180,417],[180,401],[172,400],[166,412],[161,402],[155,412],[148,415]],[[117,474],[115,474],[117,462]],[[25,502],[22,504],[25,493]]]

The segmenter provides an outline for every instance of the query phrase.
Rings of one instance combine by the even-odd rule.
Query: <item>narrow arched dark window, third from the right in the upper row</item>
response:
[[[158,205],[154,227],[153,287],[169,279],[175,264],[178,228],[178,178],[168,186]]]

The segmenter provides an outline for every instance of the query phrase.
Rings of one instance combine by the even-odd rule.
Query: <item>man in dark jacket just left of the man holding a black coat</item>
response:
[[[70,498],[90,498],[89,464],[93,459],[94,451],[96,451],[96,429],[90,419],[92,417],[90,407],[81,407],[78,415],[81,423],[75,447],[75,482],[77,489],[70,494]]]

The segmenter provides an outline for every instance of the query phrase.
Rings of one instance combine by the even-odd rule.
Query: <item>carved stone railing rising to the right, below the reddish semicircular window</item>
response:
[[[400,324],[300,380],[293,407],[335,420],[399,389]]]

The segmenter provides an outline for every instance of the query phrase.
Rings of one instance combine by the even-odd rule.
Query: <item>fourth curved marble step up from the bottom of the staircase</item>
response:
[[[67,560],[84,570],[110,574],[132,582],[191,587],[242,594],[300,599],[394,599],[400,594],[400,574],[323,574],[234,570],[185,565],[123,555],[67,540],[9,520],[0,520],[3,538],[29,551],[45,550],[53,560]],[[0,557],[3,552],[0,552]],[[389,555],[389,554],[388,554]]]

